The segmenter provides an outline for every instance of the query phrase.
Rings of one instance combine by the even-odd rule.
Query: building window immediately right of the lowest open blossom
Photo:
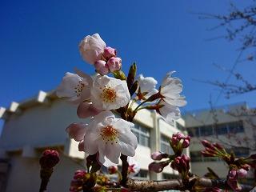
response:
[[[148,128],[135,124],[131,131],[137,137],[139,145],[150,146],[150,130]]]

